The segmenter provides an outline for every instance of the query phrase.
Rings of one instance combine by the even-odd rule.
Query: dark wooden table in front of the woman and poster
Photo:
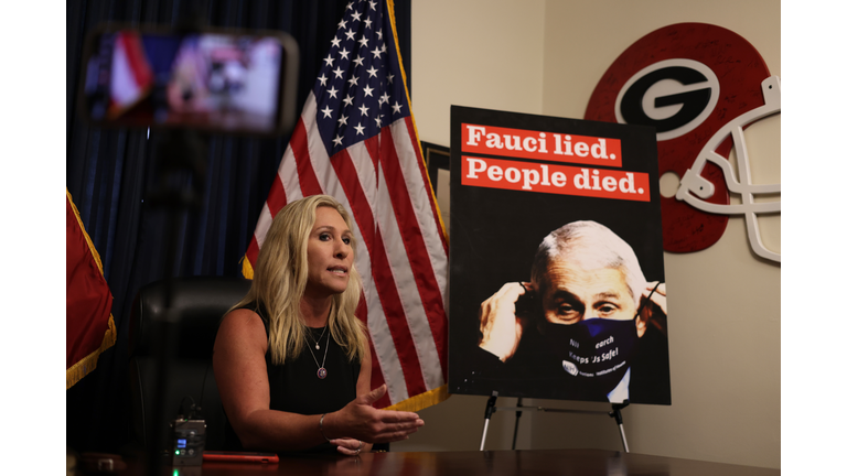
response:
[[[709,463],[604,450],[367,453],[358,457],[286,456],[278,464],[206,463],[169,469],[169,476],[775,476],[780,469]]]

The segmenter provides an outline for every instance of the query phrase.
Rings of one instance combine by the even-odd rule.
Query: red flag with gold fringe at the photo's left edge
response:
[[[111,292],[103,277],[100,256],[85,232],[79,212],[66,201],[67,293],[66,376],[69,389],[97,368],[100,353],[115,345],[117,332],[111,316]]]

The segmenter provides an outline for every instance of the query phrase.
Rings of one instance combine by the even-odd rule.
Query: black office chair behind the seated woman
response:
[[[164,431],[184,416],[191,404],[201,407],[206,422],[206,450],[224,450],[225,415],[212,370],[212,349],[221,318],[240,301],[250,281],[226,277],[175,278],[171,281],[171,309],[179,311],[174,325],[174,353],[168,366],[164,391],[164,420],[154,422],[157,363],[154,323],[165,311],[167,281],[157,281],[139,290],[132,303],[129,328],[129,376],[131,437],[150,450],[153,431]],[[165,444],[165,441],[162,442]],[[160,448],[164,450],[164,448]]]

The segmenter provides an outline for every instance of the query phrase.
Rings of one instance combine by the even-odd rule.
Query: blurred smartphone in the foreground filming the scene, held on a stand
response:
[[[100,127],[265,136],[296,121],[299,52],[283,32],[110,24],[83,62],[81,113]]]

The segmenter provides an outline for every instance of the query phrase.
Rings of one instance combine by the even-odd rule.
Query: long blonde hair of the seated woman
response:
[[[347,210],[329,195],[312,195],[286,205],[274,217],[265,235],[249,292],[233,306],[244,307],[254,302],[265,306],[268,314],[265,317],[269,321],[268,348],[276,365],[299,356],[303,346],[308,345],[307,326],[300,316],[300,300],[309,275],[307,246],[318,207],[335,209],[347,228],[353,228]],[[355,257],[356,240],[353,236],[351,248]],[[362,278],[353,264],[347,289],[332,296],[329,320],[332,338],[341,345],[351,361],[354,357],[362,361],[367,348],[365,326],[354,315],[361,293]]]

